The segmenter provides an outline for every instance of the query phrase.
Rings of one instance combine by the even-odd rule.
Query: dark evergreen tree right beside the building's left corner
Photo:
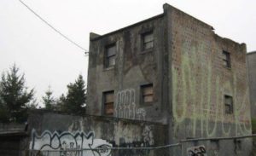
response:
[[[86,90],[83,76],[79,75],[74,84],[67,85],[67,96],[61,96],[62,111],[67,113],[85,113]]]

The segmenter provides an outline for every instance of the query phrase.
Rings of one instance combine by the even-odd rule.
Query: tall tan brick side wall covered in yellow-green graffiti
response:
[[[172,78],[171,142],[191,137],[250,135],[246,45],[218,37],[212,26],[170,5],[164,9],[168,16]],[[230,52],[231,68],[224,66],[223,50]],[[233,113],[224,112],[224,95],[233,97]],[[246,139],[242,143],[242,155],[247,155],[251,141]],[[210,148],[207,142],[203,144]],[[235,149],[234,142],[225,149]],[[232,152],[228,155],[233,155]]]

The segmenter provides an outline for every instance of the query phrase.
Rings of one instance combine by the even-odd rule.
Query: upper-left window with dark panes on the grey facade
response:
[[[105,67],[110,67],[115,65],[116,57],[116,46],[115,44],[108,45],[105,52]]]

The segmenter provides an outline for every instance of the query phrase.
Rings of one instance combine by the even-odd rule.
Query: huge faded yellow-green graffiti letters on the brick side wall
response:
[[[190,47],[189,51],[186,47]],[[206,49],[203,43],[191,43],[183,45],[181,54],[174,55],[180,59],[180,63],[174,62],[172,65],[172,114],[176,121],[175,130],[179,130],[179,126],[183,126],[186,119],[189,119],[192,122],[186,126],[190,136],[229,136],[233,129],[231,124],[235,125],[232,131],[236,131],[236,135],[250,134],[248,90],[246,84],[241,83],[245,80],[238,81],[241,73],[236,72],[236,67],[232,71],[226,69],[230,72],[230,79],[223,78],[224,74],[218,73],[221,70],[213,66],[213,63],[219,64],[223,60],[212,61],[211,56],[208,56],[210,54],[203,53]],[[221,56],[214,55],[212,58]],[[231,114],[224,112],[224,95],[227,93],[233,97]]]

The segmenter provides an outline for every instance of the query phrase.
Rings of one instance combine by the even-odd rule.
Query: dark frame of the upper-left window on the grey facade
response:
[[[114,54],[113,55],[108,55],[108,49],[114,48]],[[110,43],[105,46],[105,51],[104,51],[104,68],[111,68],[115,66],[116,64],[116,55],[117,55],[117,49],[116,49],[116,43]],[[109,61],[110,59],[114,60],[114,64],[110,65]]]

